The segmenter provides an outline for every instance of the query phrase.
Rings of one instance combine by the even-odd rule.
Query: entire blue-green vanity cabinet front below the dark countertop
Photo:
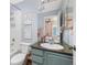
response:
[[[73,56],[32,48],[32,65],[73,65]]]

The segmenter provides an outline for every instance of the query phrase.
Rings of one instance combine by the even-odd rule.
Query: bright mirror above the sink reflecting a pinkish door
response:
[[[44,17],[44,35],[46,40],[47,37],[53,37],[56,43],[59,43],[59,14]]]

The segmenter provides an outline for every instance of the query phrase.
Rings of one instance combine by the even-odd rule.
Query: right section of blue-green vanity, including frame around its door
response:
[[[73,58],[58,53],[46,53],[45,65],[73,65]]]

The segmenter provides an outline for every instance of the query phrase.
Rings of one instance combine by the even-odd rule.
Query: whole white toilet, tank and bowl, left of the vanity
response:
[[[30,53],[31,43],[20,43],[21,53],[17,53],[11,57],[11,65],[24,65],[26,54]]]

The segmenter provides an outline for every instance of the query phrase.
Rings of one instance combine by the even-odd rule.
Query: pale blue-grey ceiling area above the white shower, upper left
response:
[[[19,3],[14,3],[21,11],[37,11],[39,0],[23,0]]]

